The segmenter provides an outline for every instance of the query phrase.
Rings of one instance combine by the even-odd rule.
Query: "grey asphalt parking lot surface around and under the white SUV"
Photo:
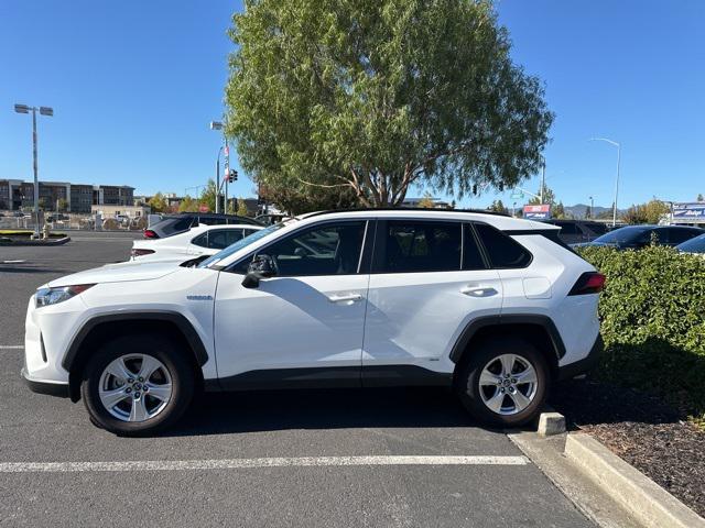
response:
[[[134,235],[72,237],[0,248],[0,526],[593,526],[442,389],[208,395],[145,439],[30,393],[30,295],[124,260]]]

